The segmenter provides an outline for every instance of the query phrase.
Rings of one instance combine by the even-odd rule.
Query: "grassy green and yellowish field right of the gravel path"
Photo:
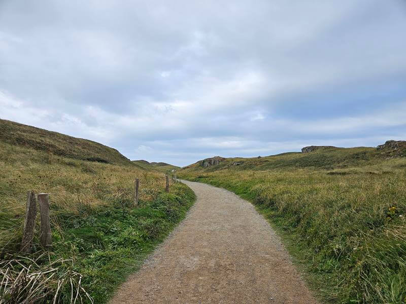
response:
[[[196,163],[178,175],[253,202],[326,302],[406,303],[406,158],[388,155],[325,148]]]

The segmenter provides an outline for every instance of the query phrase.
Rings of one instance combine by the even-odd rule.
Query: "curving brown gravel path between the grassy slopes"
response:
[[[253,206],[185,181],[197,201],[111,304],[317,303],[280,238]]]

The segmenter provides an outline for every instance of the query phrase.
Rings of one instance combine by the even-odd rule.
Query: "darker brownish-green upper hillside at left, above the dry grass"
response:
[[[0,119],[0,141],[77,160],[107,164],[132,164],[116,149],[98,142],[2,119]]]

